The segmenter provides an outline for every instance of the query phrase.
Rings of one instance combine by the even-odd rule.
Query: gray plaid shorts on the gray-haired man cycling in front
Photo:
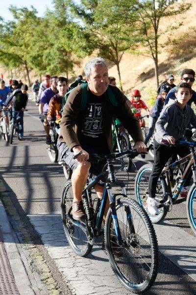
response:
[[[62,143],[59,140],[57,141],[57,148],[60,152],[61,158],[66,162],[66,164],[70,167],[70,169],[74,171],[79,165],[79,162],[77,161],[77,159],[73,159],[73,151],[71,151],[70,148],[68,148],[66,143]],[[96,153],[96,152],[92,151],[92,153]],[[94,180],[102,172],[105,163],[106,162],[91,164],[89,177],[88,177],[89,181]],[[104,182],[105,182],[104,179],[99,180],[98,184],[103,186]]]

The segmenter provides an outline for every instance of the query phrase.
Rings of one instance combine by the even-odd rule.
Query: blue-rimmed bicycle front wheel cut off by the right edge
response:
[[[190,226],[196,235],[196,185],[193,184],[187,196],[187,216]]]

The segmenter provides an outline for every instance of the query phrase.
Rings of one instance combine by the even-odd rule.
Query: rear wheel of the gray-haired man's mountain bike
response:
[[[73,220],[72,218],[73,189],[72,182],[68,181],[61,194],[61,217],[65,235],[73,251],[79,256],[86,256],[93,247],[89,242],[86,220]]]

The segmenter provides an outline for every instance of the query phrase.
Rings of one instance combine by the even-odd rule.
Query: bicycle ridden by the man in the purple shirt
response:
[[[49,126],[49,124],[47,124]],[[57,139],[58,139],[58,133],[57,129],[59,129],[59,124],[54,122],[54,124],[49,129],[49,135],[51,137],[51,144],[48,145],[47,152],[49,155],[49,159],[52,163],[56,163],[58,160],[58,148],[56,147]]]

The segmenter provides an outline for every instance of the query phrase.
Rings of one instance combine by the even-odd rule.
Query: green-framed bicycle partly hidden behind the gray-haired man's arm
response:
[[[119,152],[123,152],[131,149],[131,144],[129,137],[124,131],[123,125],[116,124],[115,119],[113,119],[113,152],[118,148]],[[132,161],[130,157],[122,157],[120,159],[123,170],[130,171],[132,166]]]

